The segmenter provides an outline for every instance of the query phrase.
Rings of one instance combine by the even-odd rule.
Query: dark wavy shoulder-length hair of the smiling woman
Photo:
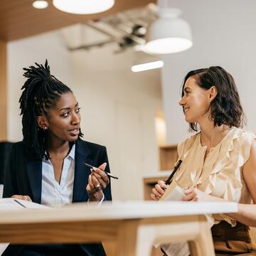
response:
[[[245,114],[235,81],[224,68],[216,66],[188,72],[183,81],[181,97],[184,95],[186,80],[191,77],[195,78],[197,84],[205,90],[212,86],[216,87],[217,95],[210,102],[210,119],[213,120],[214,126],[226,124],[229,127],[242,127],[245,124]],[[190,123],[189,126],[191,131],[198,131],[197,123]]]

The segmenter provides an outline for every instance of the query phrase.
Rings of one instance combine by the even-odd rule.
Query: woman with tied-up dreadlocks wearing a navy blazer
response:
[[[24,68],[23,141],[12,146],[4,197],[46,206],[110,201],[105,146],[82,141],[80,107],[70,88],[43,65]],[[99,166],[92,170],[84,163]],[[4,255],[105,255],[101,244],[9,245]]]

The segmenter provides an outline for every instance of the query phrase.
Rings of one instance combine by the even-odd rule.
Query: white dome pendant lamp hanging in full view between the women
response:
[[[149,28],[149,38],[144,46],[146,53],[169,54],[191,48],[191,28],[186,21],[178,18],[180,15],[179,9],[160,9],[159,18]]]

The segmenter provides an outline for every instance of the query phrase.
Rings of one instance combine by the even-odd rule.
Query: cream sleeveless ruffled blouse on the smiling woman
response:
[[[207,156],[201,145],[201,133],[178,144],[178,159],[182,160],[174,180],[182,188],[196,187],[212,196],[228,201],[251,203],[252,198],[242,175],[242,168],[250,156],[255,134],[233,127]],[[211,216],[214,223],[236,222],[224,214]]]

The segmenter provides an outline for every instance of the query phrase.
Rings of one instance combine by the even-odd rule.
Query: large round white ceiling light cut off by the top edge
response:
[[[60,11],[70,14],[97,14],[114,6],[114,0],[53,0]]]

